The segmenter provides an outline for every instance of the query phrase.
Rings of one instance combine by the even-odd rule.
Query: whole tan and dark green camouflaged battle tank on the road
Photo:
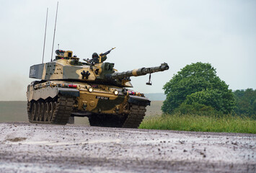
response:
[[[113,48],[112,48],[113,49]],[[112,50],[111,49],[111,50]],[[130,76],[142,76],[169,69],[167,63],[119,73],[114,63],[105,63],[107,54],[92,59],[56,50],[56,59],[30,67],[27,86],[27,114],[30,123],[74,123],[74,117],[89,117],[90,125],[138,128],[150,100],[131,89]],[[149,83],[151,84],[150,80]]]

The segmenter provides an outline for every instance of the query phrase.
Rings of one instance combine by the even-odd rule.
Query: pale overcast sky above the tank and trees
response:
[[[0,100],[26,100],[30,66],[50,61],[57,1],[0,0]],[[159,66],[169,70],[131,77],[134,90],[164,92],[187,64],[211,63],[230,89],[256,88],[256,1],[59,1],[54,50],[91,58],[112,47],[118,71]]]

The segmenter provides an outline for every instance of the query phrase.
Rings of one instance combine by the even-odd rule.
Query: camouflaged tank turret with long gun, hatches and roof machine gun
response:
[[[113,48],[112,48],[113,49]],[[110,50],[107,51],[110,53]],[[169,69],[167,63],[151,68],[138,68],[132,71],[117,72],[114,63],[103,63],[107,53],[100,53],[99,58],[80,62],[70,50],[56,50],[56,58],[52,62],[40,63],[30,67],[30,78],[42,80],[76,80],[76,81],[102,81],[118,86],[131,87],[131,76],[143,76]],[[101,62],[101,63],[100,63]]]

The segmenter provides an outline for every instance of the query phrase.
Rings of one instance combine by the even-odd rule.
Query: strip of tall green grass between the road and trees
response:
[[[256,133],[256,120],[250,117],[224,115],[223,117],[199,115],[165,115],[146,117],[139,128],[157,130],[185,130],[226,133]]]

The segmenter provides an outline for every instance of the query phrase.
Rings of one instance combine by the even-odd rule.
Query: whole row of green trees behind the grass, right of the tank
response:
[[[185,66],[163,89],[167,95],[162,105],[165,114],[256,115],[256,90],[232,92],[210,63]]]

